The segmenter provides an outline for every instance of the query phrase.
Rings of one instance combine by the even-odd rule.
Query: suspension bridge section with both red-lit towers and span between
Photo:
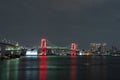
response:
[[[49,55],[49,54],[60,54],[60,55],[77,55],[77,44],[75,42],[71,43],[71,46],[68,47],[60,47],[60,46],[51,46],[49,45],[49,41],[46,38],[42,38],[40,41],[40,47],[38,50],[39,55]]]

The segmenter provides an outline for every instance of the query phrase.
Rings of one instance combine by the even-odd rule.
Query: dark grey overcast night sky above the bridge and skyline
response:
[[[120,0],[0,0],[0,38],[58,46],[91,42],[120,47]]]

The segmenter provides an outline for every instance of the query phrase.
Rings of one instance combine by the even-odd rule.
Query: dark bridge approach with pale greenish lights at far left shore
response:
[[[0,57],[19,57],[22,52],[18,43],[0,42]]]

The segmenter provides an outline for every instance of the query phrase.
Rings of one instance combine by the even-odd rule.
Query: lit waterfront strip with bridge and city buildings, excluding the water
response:
[[[36,47],[26,48],[18,43],[0,43],[0,59],[19,58],[21,56],[120,56],[120,51],[112,46],[107,49],[107,44],[90,43],[90,49],[80,49],[75,42],[69,46],[49,45],[46,38],[40,40]]]

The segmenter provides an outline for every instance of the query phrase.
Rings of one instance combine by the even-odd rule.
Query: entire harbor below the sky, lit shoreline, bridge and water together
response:
[[[46,38],[39,47],[25,48],[1,43],[1,80],[119,80],[120,56],[116,49],[92,44],[90,50],[50,46]],[[114,76],[112,76],[114,74]]]

